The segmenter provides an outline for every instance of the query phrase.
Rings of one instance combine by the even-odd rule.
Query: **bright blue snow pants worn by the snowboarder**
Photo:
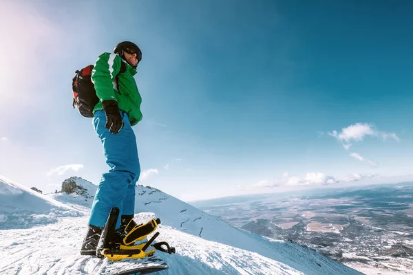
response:
[[[135,212],[135,185],[140,175],[140,164],[136,137],[127,113],[120,111],[123,127],[113,134],[105,127],[105,111],[96,111],[93,118],[94,129],[103,144],[109,172],[100,179],[92,204],[90,225],[103,227],[110,210],[120,210],[116,229],[120,228],[120,216]]]

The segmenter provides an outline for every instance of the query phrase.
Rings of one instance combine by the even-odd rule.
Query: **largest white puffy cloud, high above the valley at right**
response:
[[[328,135],[335,137],[343,144],[343,147],[348,150],[352,146],[351,142],[360,142],[364,140],[366,136],[381,136],[383,141],[389,138],[400,142],[399,137],[395,133],[386,133],[378,131],[372,124],[369,123],[356,123],[346,128],[341,129],[341,133],[337,131],[329,132]]]

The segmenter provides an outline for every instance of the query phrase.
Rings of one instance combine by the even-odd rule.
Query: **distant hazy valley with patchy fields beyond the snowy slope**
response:
[[[409,274],[413,266],[410,182],[223,198],[198,207],[235,227],[307,245],[366,274]]]

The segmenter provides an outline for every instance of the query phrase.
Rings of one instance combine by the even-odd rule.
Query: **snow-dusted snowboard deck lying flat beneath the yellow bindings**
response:
[[[107,259],[103,260],[107,261]],[[99,274],[102,275],[140,275],[167,270],[169,266],[158,256],[143,259],[107,261]]]

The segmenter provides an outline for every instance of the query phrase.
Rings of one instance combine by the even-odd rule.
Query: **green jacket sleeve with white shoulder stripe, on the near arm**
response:
[[[122,58],[117,54],[101,54],[92,70],[92,83],[100,101],[116,100],[113,80],[120,71]]]

